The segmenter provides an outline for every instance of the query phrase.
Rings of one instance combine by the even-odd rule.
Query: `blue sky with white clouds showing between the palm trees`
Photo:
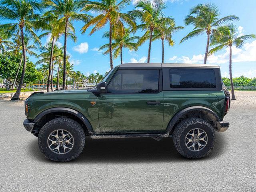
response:
[[[185,26],[184,17],[188,14],[190,8],[198,3],[214,3],[220,10],[221,17],[234,14],[240,17],[239,21],[234,22],[238,26],[241,34],[256,34],[256,1],[255,0],[167,0],[167,8],[164,10],[166,16],[172,16],[176,21],[176,26]],[[246,3],[245,3],[246,2]],[[134,2],[133,2],[134,3]],[[123,12],[132,10],[134,4],[126,7]],[[94,13],[88,13],[95,16]],[[109,56],[98,52],[98,48],[103,44],[108,43],[108,39],[102,38],[103,32],[107,31],[109,26],[88,36],[89,30],[85,34],[81,34],[80,29],[83,26],[82,22],[74,22],[76,28],[76,43],[68,40],[67,51],[71,56],[70,60],[74,63],[74,70],[80,70],[84,74],[99,72],[104,74],[110,69]],[[174,34],[173,39],[176,42],[173,47],[169,47],[165,43],[165,62],[177,63],[203,63],[204,52],[206,48],[206,34],[197,36],[186,42],[179,44],[180,40],[191,32],[193,26],[185,26],[184,30]],[[143,32],[136,32],[136,36],[141,36]],[[45,43],[47,39],[42,39]],[[63,45],[64,41],[61,38],[58,44]],[[88,47],[87,47],[88,46]],[[148,52],[148,42],[143,44],[138,52],[130,52],[123,50],[123,62],[146,62]],[[248,76],[256,77],[256,39],[248,40],[243,48],[233,48],[233,76]],[[222,76],[228,77],[228,53],[222,50],[214,56],[208,58],[208,64],[218,64],[221,66]],[[152,54],[150,62],[161,62],[162,48],[160,41],[152,43]],[[33,62],[36,58],[31,58]],[[114,66],[120,64],[120,58],[114,60]]]

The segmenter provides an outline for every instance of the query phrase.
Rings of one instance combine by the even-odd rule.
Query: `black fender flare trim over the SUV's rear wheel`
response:
[[[176,113],[172,119],[170,120],[169,124],[168,124],[168,127],[166,129],[167,132],[171,132],[174,125],[176,124],[176,122],[179,120],[179,118],[181,116],[183,116],[184,114],[188,113],[188,112],[191,112],[191,111],[204,111],[204,112],[208,112],[210,113],[211,115],[213,115],[217,121],[220,121],[220,118],[219,116],[214,112],[212,111],[211,109],[207,108],[207,107],[203,107],[203,106],[192,106],[192,107],[188,107],[188,108],[184,108],[182,109],[181,111],[179,111],[178,113]]]

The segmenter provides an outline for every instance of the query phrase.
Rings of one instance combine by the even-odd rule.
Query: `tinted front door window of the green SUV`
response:
[[[158,92],[159,70],[118,70],[108,84],[110,93]]]

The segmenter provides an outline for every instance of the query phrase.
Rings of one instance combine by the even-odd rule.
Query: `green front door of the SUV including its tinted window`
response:
[[[107,91],[98,99],[101,132],[162,129],[162,70],[119,69],[108,83]]]

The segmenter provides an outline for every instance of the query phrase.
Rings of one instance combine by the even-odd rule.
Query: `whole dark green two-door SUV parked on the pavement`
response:
[[[128,63],[113,68],[96,89],[36,92],[25,101],[26,130],[44,156],[70,161],[91,138],[172,137],[187,158],[214,148],[230,98],[220,67]]]

